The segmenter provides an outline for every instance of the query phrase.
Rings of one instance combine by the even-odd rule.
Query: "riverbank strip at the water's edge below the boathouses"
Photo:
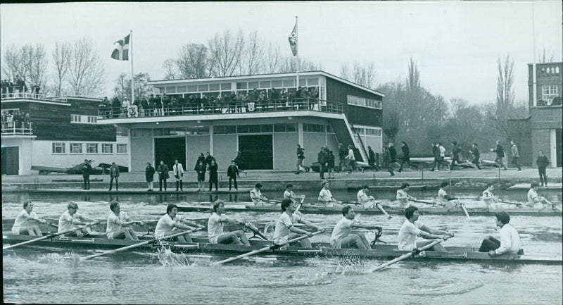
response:
[[[548,189],[562,189],[562,170],[561,168],[548,168],[549,179]],[[325,178],[328,175],[325,173]],[[158,175],[154,182],[154,189],[158,191]],[[206,176],[208,178],[208,176]],[[49,174],[49,175],[2,175],[2,191],[39,191],[57,190],[58,192],[108,192],[108,175],[91,175],[90,190],[82,190],[82,175]],[[197,192],[196,173],[188,172],[184,174],[184,193]],[[303,189],[320,189],[319,173],[301,173],[296,175],[293,172],[281,172],[273,170],[248,170],[247,174],[241,173],[237,179],[239,192],[248,192],[256,182],[262,183],[263,189],[279,191],[285,188],[288,183],[293,184],[296,191]],[[500,189],[514,189],[526,187],[532,180],[538,180],[538,170],[536,168],[524,168],[521,171],[497,170],[497,169],[463,169],[463,170],[441,170],[441,171],[416,171],[406,170],[403,173],[396,172],[391,176],[384,171],[365,171],[354,173],[336,173],[335,178],[329,180],[331,189],[359,189],[367,184],[373,189],[397,188],[404,182],[411,185],[411,188],[438,189],[443,181],[450,182],[455,189],[481,189],[486,183],[493,182]],[[119,178],[120,192],[144,193],[147,189],[144,173],[122,173]],[[167,190],[174,192],[176,182],[174,178],[167,181]],[[205,189],[208,189],[208,182],[205,182]],[[225,173],[219,175],[219,191],[229,192],[229,180]],[[115,185],[114,191],[115,192]],[[232,192],[235,192],[232,187]]]

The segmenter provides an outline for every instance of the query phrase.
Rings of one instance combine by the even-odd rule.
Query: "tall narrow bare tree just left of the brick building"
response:
[[[497,60],[498,77],[497,77],[497,115],[501,119],[506,118],[506,111],[514,104],[514,60],[507,55],[504,64]]]

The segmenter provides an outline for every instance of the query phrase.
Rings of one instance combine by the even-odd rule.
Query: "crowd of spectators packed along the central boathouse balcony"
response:
[[[318,98],[317,87],[298,87],[296,91],[272,88],[252,89],[248,92],[189,94],[185,98],[181,94],[164,93],[135,99],[134,103],[127,97],[122,101],[118,97],[114,97],[112,101],[104,97],[100,110],[106,118],[177,116],[189,112],[241,113],[270,106],[312,109]]]

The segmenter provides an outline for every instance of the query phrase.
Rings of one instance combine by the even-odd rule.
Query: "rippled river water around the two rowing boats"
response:
[[[412,192],[429,198],[435,192]],[[317,192],[305,192],[315,198]],[[354,200],[355,192],[335,191],[334,197]],[[524,191],[499,192],[501,197],[522,201]],[[456,194],[476,197],[469,192]],[[561,201],[561,192],[547,195]],[[281,194],[268,194],[279,198]],[[376,198],[393,197],[377,192]],[[80,213],[103,219],[108,201],[118,199],[123,211],[141,220],[158,219],[167,203],[198,201],[248,201],[248,194],[234,195],[75,195],[3,193],[3,218],[14,218],[25,199],[34,201],[39,216],[58,218],[68,201],[77,201]],[[227,204],[231,204],[228,202]],[[190,218],[208,213],[184,213]],[[231,213],[232,218],[275,220],[278,213]],[[381,239],[396,244],[404,219],[358,216],[383,226]],[[334,225],[337,215],[308,215],[319,223]],[[478,247],[487,235],[498,234],[494,218],[472,216],[421,216],[431,227],[447,228],[455,237],[449,246]],[[526,254],[562,255],[560,216],[513,216]],[[373,238],[372,232],[367,232]],[[313,237],[328,242],[329,233]],[[327,258],[255,256],[225,266],[209,266],[223,257],[209,254],[154,254],[127,252],[80,262],[89,250],[22,247],[3,255],[4,302],[15,303],[121,303],[121,304],[562,304],[562,266],[505,263],[455,263],[404,261],[378,273],[367,270],[382,261]]]

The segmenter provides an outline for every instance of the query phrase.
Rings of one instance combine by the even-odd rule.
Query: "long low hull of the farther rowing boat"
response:
[[[382,204],[389,201],[381,201]],[[352,204],[352,203],[350,203]],[[404,208],[388,207],[385,206],[385,211],[387,213],[392,213],[396,215],[404,215]],[[265,204],[263,206],[255,206],[253,204],[241,204],[237,206],[225,206],[225,211],[230,212],[262,212],[271,213],[277,212],[281,213],[281,208],[279,205]],[[178,211],[180,212],[210,212],[212,208],[210,206],[178,206]],[[308,214],[340,214],[342,213],[342,206],[336,204],[335,206],[322,206],[313,204],[303,204],[300,211],[302,213]],[[375,205],[369,208],[364,208],[362,206],[355,206],[354,211],[356,213],[364,215],[380,215],[383,214],[379,208]],[[510,208],[510,209],[495,209],[495,208],[467,208],[467,212],[470,216],[494,216],[495,213],[499,211],[507,211],[512,216],[562,216],[560,211],[554,211],[552,208]],[[449,215],[449,216],[464,216],[464,211],[461,207],[457,206],[454,208],[444,208],[441,206],[436,207],[426,207],[419,208],[420,215]]]

